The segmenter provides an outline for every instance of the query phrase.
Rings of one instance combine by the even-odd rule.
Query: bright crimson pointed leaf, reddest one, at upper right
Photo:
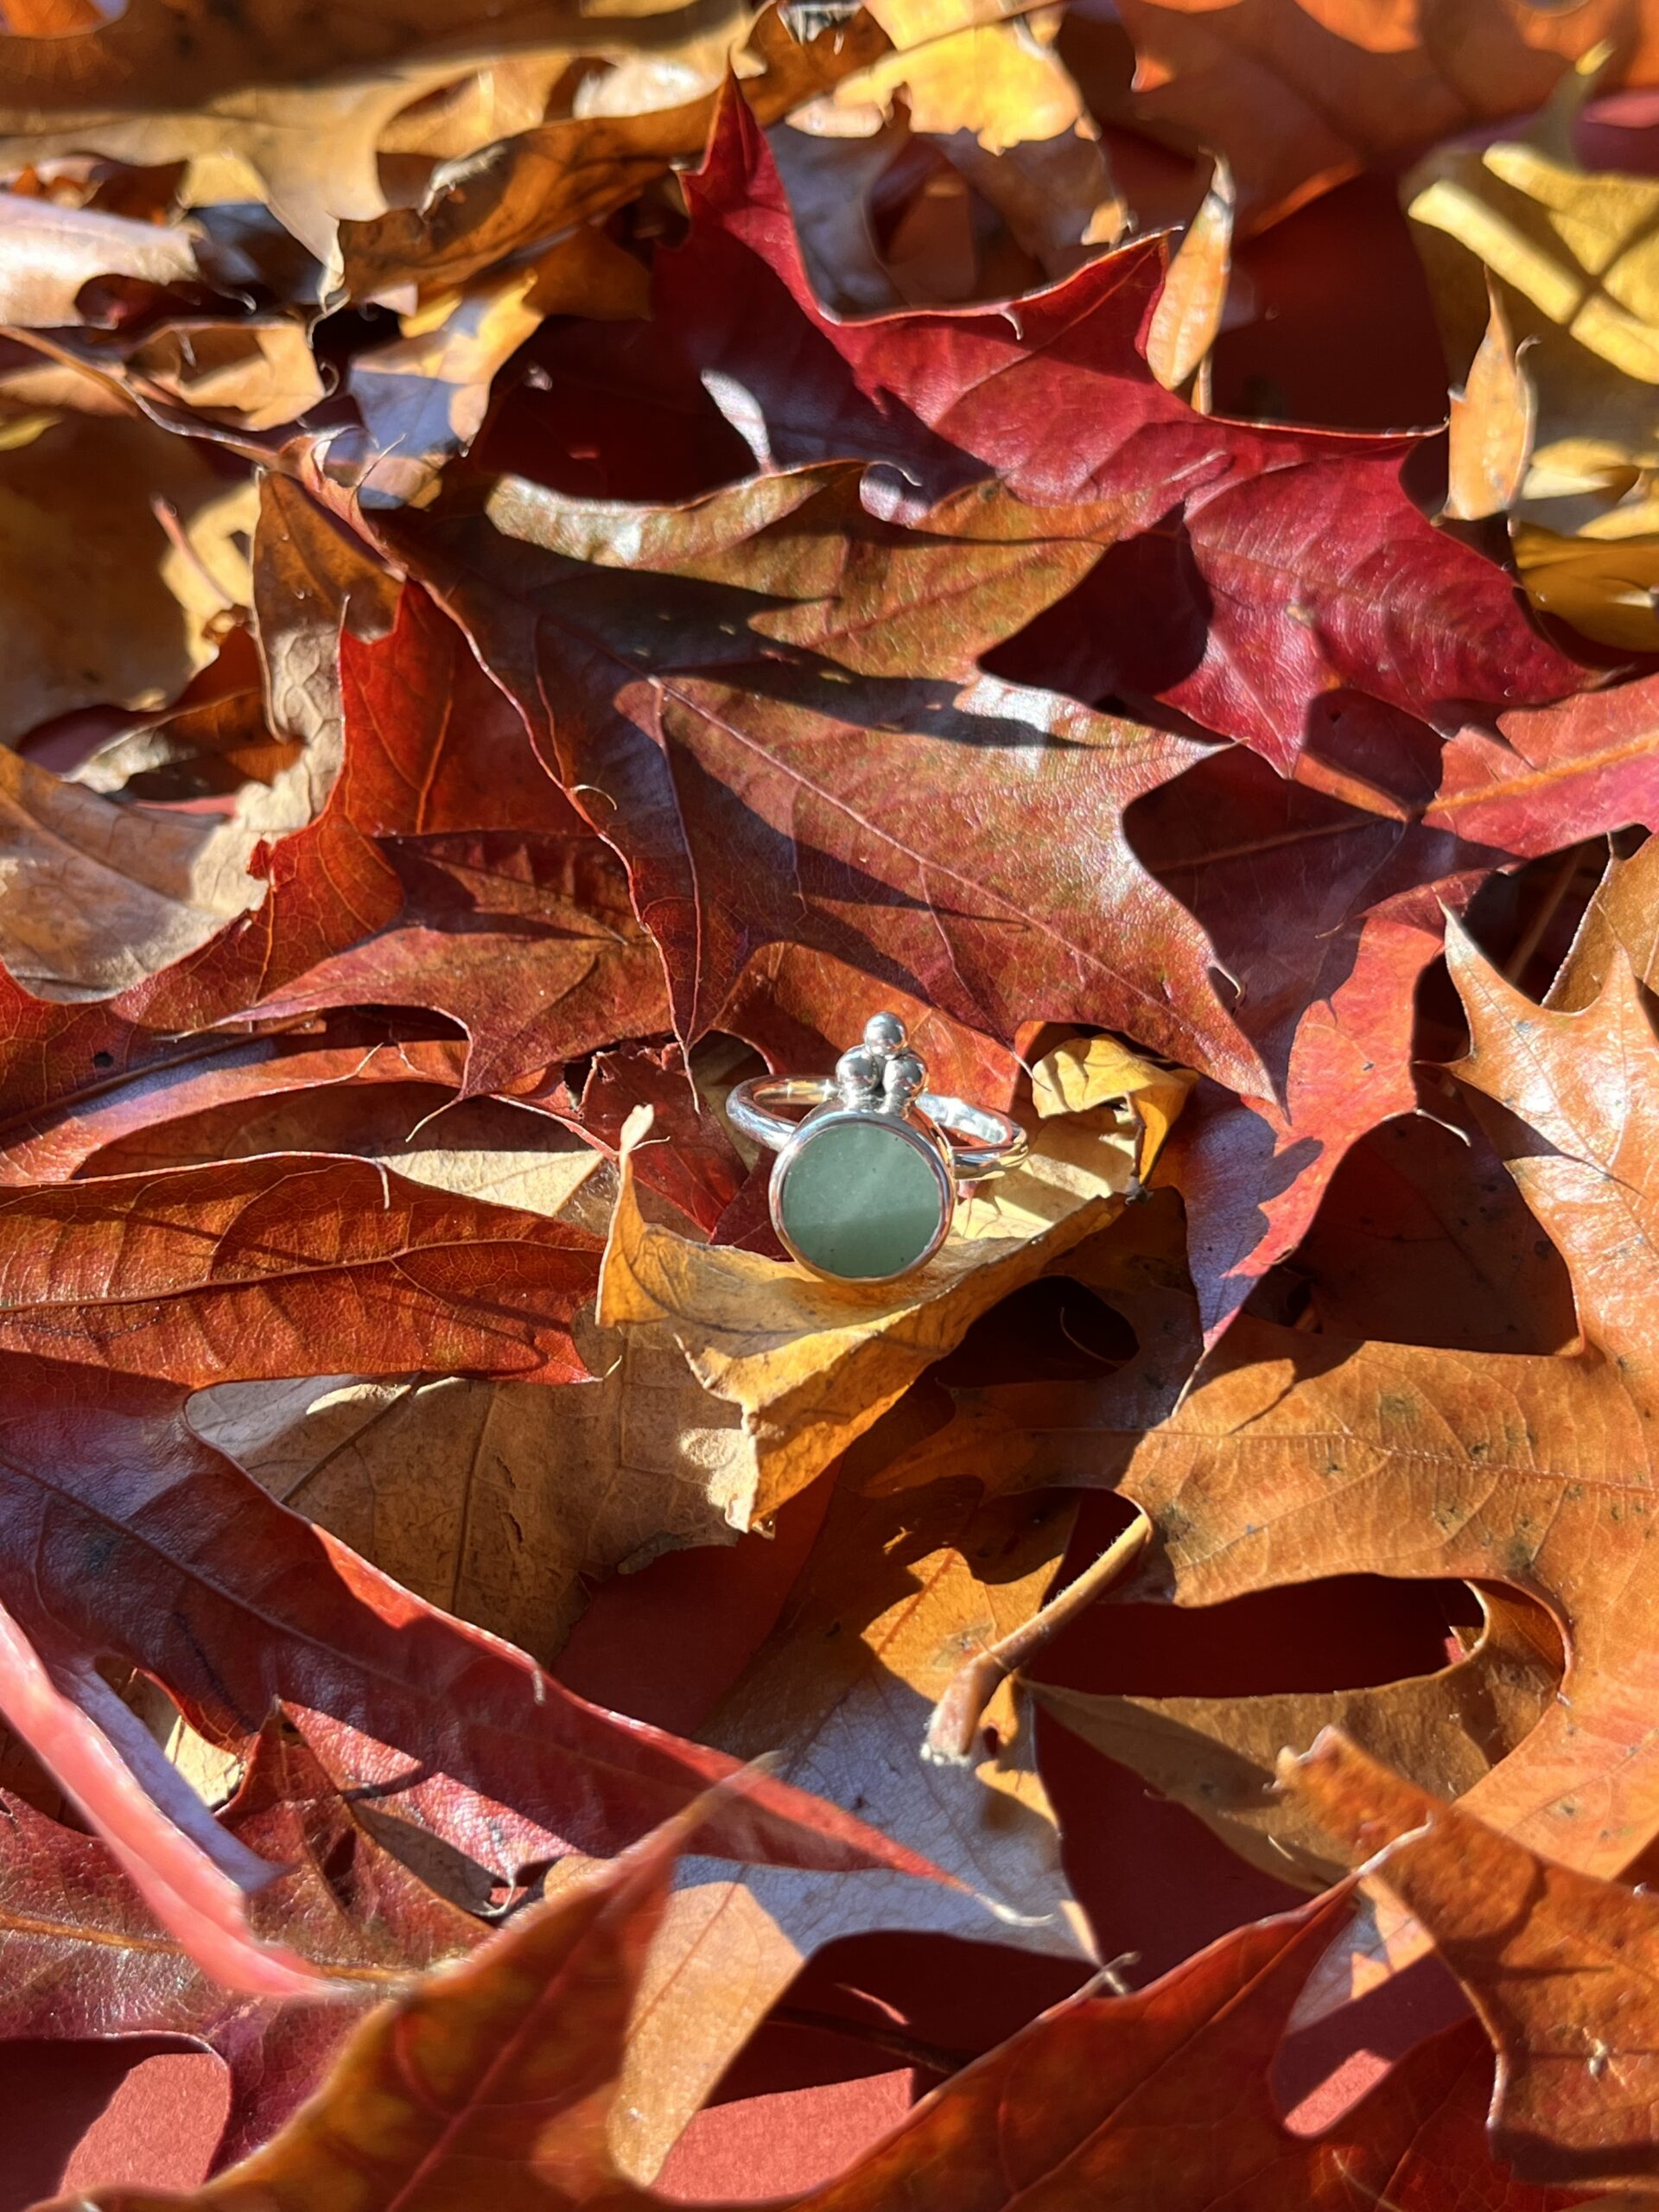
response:
[[[723,396],[728,436],[765,467],[858,453],[889,484],[898,471],[889,498],[909,504],[991,471],[1064,509],[1051,531],[1104,557],[1009,672],[1042,670],[1079,699],[1168,701],[1285,774],[1343,686],[1436,728],[1584,686],[1504,571],[1416,509],[1400,469],[1420,440],[1225,422],[1159,385],[1139,349],[1157,243],[1011,307],[843,323],[812,296],[741,102],[686,197],[690,237],[657,263],[650,327],[577,330],[540,349],[544,365],[622,383],[681,440],[695,407],[719,431]]]

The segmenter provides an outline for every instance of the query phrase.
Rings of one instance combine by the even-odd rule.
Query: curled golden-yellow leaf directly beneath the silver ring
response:
[[[953,1349],[1000,1298],[1104,1228],[1135,1179],[1135,1133],[1110,1110],[1048,1121],[1013,1175],[971,1188],[938,1259],[909,1283],[849,1292],[792,1261],[703,1248],[639,1212],[624,1175],[599,1276],[599,1321],[679,1345],[743,1416],[734,1526],[765,1522]]]

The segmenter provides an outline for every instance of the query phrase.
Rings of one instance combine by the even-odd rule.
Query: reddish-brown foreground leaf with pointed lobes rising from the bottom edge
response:
[[[675,1829],[551,1900],[358,2028],[334,2077],[254,2159],[188,2192],[93,2190],[97,2212],[252,2212],[338,2192],[436,2212],[487,2174],[511,2212],[655,2212],[599,2141],[628,2015],[661,1920]],[[964,2068],[843,2177],[790,2212],[956,2212],[1015,2203],[1210,2212],[1356,2201],[1546,2212],[1482,2141],[1491,2062],[1473,2022],[1422,2044],[1325,2135],[1292,2135],[1270,2068],[1345,1893],[1223,1936],[1126,1997],[1055,2006]],[[1194,2124],[1194,2112],[1206,2121]],[[1223,2124],[1217,2124],[1217,2115]],[[1444,2177],[1455,2174],[1455,2199]],[[1566,2199],[1573,2201],[1571,2197]],[[53,2212],[66,2212],[60,2201]]]

